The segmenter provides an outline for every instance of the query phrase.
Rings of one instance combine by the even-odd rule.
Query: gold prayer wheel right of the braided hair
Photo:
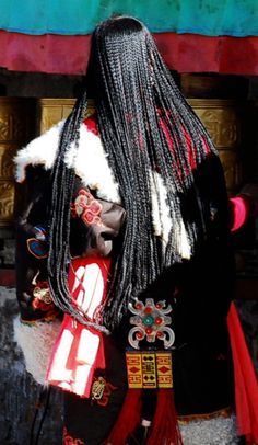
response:
[[[189,99],[188,102],[206,126],[219,151],[228,192],[235,193],[242,182],[239,104],[223,99]]]

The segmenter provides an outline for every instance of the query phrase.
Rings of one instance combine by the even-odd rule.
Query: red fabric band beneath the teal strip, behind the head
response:
[[[171,69],[179,72],[258,75],[258,37],[154,34]],[[0,66],[9,70],[82,75],[91,37],[31,36],[0,31]]]

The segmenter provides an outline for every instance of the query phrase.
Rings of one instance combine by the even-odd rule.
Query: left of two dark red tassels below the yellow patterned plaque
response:
[[[128,436],[140,423],[141,418],[141,389],[128,389],[120,414],[110,432],[106,445],[125,445]]]

